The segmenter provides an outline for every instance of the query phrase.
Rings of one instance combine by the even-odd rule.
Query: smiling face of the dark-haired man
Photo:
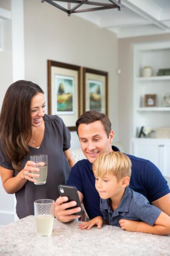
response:
[[[114,133],[111,131],[108,137],[101,121],[80,124],[78,134],[82,151],[90,163],[94,163],[99,155],[112,151]]]

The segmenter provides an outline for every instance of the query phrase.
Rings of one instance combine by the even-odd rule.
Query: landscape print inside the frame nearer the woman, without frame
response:
[[[57,114],[74,114],[74,77],[56,75],[55,84]]]

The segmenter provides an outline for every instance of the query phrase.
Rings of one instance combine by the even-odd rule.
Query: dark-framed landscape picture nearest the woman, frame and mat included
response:
[[[76,131],[80,116],[81,67],[48,60],[48,113],[60,116],[70,131]]]

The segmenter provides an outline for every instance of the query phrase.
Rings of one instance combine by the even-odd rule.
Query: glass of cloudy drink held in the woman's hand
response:
[[[34,182],[36,185],[42,185],[46,183],[47,180],[47,167],[48,167],[48,161],[47,161],[47,155],[31,155],[30,160],[36,163],[36,166],[38,169],[40,169],[40,172],[31,172],[34,174],[40,174],[40,177],[36,177],[37,182]]]

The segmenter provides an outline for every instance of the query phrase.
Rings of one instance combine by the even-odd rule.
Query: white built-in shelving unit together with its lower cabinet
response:
[[[144,66],[153,76],[142,77]],[[163,97],[170,93],[170,76],[156,76],[159,69],[170,68],[170,41],[133,46],[133,138],[131,154],[151,160],[164,176],[170,177],[170,139],[138,138],[142,126],[156,129],[170,127],[170,107],[163,107]],[[156,106],[145,107],[144,96],[156,94]]]

